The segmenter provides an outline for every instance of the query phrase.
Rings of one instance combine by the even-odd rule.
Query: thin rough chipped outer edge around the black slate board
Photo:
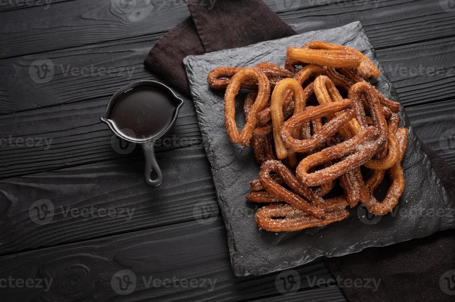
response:
[[[371,45],[371,50],[374,54],[374,58],[376,59],[376,52],[374,50],[374,47],[371,43],[371,41],[369,40],[368,38],[368,35],[366,34],[364,28],[363,28],[363,25],[360,21],[356,21],[356,22],[351,22],[349,24],[346,24],[346,25],[343,25],[343,26],[339,26],[339,27],[356,27],[360,34],[362,35],[362,38],[369,44]],[[332,29],[327,29],[327,31],[329,30],[332,30]],[[319,31],[319,30],[315,30],[316,32]],[[321,30],[321,31],[326,31],[326,30]],[[298,34],[299,35],[299,34]],[[280,39],[277,39],[277,40],[280,40]],[[261,44],[263,42],[259,42],[258,44]],[[253,44],[254,45],[254,44]],[[251,45],[248,45],[248,46],[245,46],[245,47],[240,47],[240,48],[247,48],[247,47],[250,47]],[[216,51],[216,52],[212,52],[212,53],[223,53],[227,50],[219,50],[219,51]],[[203,55],[203,54],[202,54]],[[188,68],[188,65],[189,65],[189,59],[191,57],[196,57],[196,55],[190,55],[190,56],[187,56],[185,59],[183,59],[183,64],[185,66],[185,69],[186,69],[186,72],[187,74],[191,72],[191,69]],[[398,100],[399,101],[399,97],[398,97],[398,94],[396,93],[396,89],[394,88],[393,84],[390,82],[390,79],[389,77],[387,76],[383,66],[379,63],[379,61],[377,61],[376,59],[376,62],[375,62],[379,68],[379,70],[381,71],[381,74],[384,75],[384,81],[385,83],[389,86],[390,88],[390,93],[393,95],[393,99],[395,100]],[[198,122],[200,123],[201,120],[200,120],[200,114],[199,114],[199,110],[196,106],[196,112],[198,113],[197,114],[197,119],[198,119]],[[415,137],[417,138],[417,134],[415,134],[415,131],[413,129],[413,127],[410,125],[410,122],[409,122],[409,119],[407,117],[407,114],[406,112],[404,111],[404,107],[402,105],[400,105],[400,114],[403,115],[404,117],[404,120],[407,124],[407,128],[410,129],[410,131],[413,131],[414,132],[414,135]],[[402,120],[403,121],[403,120]],[[400,122],[400,125],[402,124],[402,122]],[[204,148],[206,150],[206,153],[207,153],[207,157],[210,159],[212,157],[211,154],[209,154],[208,152],[208,145],[209,144],[209,139],[207,137],[207,134],[203,131],[201,131],[201,134],[202,134],[202,137],[204,138],[203,139],[203,144],[204,144]],[[419,140],[417,139],[415,144],[417,144],[417,147],[418,149],[421,150],[421,144],[419,142]],[[430,165],[430,172],[431,174],[434,176],[434,179],[436,179],[436,182],[437,184],[439,184],[442,189],[443,189],[443,193],[446,195],[447,199],[450,200],[449,198],[449,195],[448,193],[445,191],[445,188],[442,186],[442,184],[440,184],[440,179],[439,177],[436,175],[434,169],[432,168],[431,166],[431,162],[430,162],[430,158],[428,157],[428,155],[423,152],[423,155],[424,155],[424,159],[423,159],[423,163],[424,164],[429,164]],[[211,162],[211,161],[210,161]],[[212,162],[211,162],[211,171],[212,171],[212,174],[214,174],[214,171],[213,171],[213,167],[212,167]],[[215,187],[215,190],[216,190],[216,196],[217,196],[217,201],[218,203],[220,203],[220,197],[218,195],[218,192],[217,192],[217,189]],[[223,208],[221,208],[221,211],[223,213]],[[230,253],[230,257],[231,257],[231,264],[232,264],[232,270],[233,270],[233,273],[236,277],[243,277],[243,276],[247,276],[247,275],[262,275],[262,274],[266,274],[266,273],[271,273],[271,272],[275,272],[275,271],[279,271],[279,270],[283,270],[283,269],[287,269],[287,268],[292,268],[292,267],[297,267],[297,266],[300,266],[302,264],[305,264],[305,263],[308,263],[308,262],[311,262],[313,261],[314,259],[318,258],[318,257],[323,257],[323,256],[326,256],[326,257],[338,257],[338,256],[343,256],[343,255],[346,255],[347,253],[333,253],[331,255],[327,255],[325,254],[324,252],[320,252],[320,254],[313,254],[313,255],[309,255],[307,254],[306,257],[303,257],[301,258],[299,261],[297,262],[293,262],[292,264],[289,264],[289,263],[282,263],[280,265],[277,265],[276,267],[273,267],[273,268],[269,268],[269,269],[264,269],[264,270],[255,270],[255,269],[248,269],[248,267],[246,267],[245,265],[241,264],[241,263],[238,263],[236,261],[236,248],[235,248],[235,242],[233,240],[233,232],[232,232],[232,229],[231,229],[231,224],[229,223],[229,221],[226,219],[226,215],[222,215],[223,217],[223,221],[225,223],[225,227],[226,227],[226,232],[227,232],[227,239],[228,239],[228,244],[229,244],[229,253]],[[390,238],[390,240],[388,241],[369,241],[368,242],[368,245],[369,246],[364,246],[365,245],[365,242],[362,243],[362,246],[354,246],[352,247],[352,249],[350,250],[349,253],[354,253],[354,252],[360,252],[362,250],[364,250],[364,248],[369,248],[369,247],[384,247],[384,246],[388,246],[388,245],[392,245],[394,243],[397,243],[397,242],[405,242],[405,241],[409,241],[409,240],[412,240],[414,238],[423,238],[423,237],[426,237],[426,236],[430,236],[431,234],[434,234],[438,231],[443,231],[443,230],[446,230],[446,229],[450,229],[450,228],[455,228],[455,223],[452,222],[452,224],[450,225],[440,225],[440,228],[439,229],[435,229],[434,232],[421,232],[421,236],[417,233],[417,235],[415,236],[410,236],[409,238],[401,238],[399,241],[396,240],[396,238]]]

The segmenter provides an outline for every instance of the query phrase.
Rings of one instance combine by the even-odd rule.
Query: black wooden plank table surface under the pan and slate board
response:
[[[183,1],[49,2],[0,5],[0,301],[345,301],[320,259],[293,295],[277,273],[233,276],[190,99],[157,148],[157,189],[100,122],[117,89],[157,79],[142,62]],[[361,20],[420,138],[455,164],[454,0],[265,2],[298,32]]]

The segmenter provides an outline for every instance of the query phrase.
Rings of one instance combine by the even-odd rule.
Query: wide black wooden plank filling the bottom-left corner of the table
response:
[[[13,283],[14,287],[2,288],[2,301],[29,301],[32,297],[47,301],[235,301],[278,294],[278,273],[233,277],[221,218],[208,224],[179,223],[18,253],[0,257],[0,263],[0,279],[46,279],[48,284],[52,279],[48,291],[45,282],[44,288],[18,288]],[[294,269],[302,276],[301,290],[309,288],[303,276],[331,278],[320,259]],[[136,277],[136,286],[129,287],[134,290],[124,296],[113,289],[119,284],[115,277],[123,276],[118,273],[121,270],[131,270]],[[166,278],[171,279],[169,287],[148,282],[169,282]],[[318,291],[320,295],[324,292]],[[333,291],[327,295],[333,298]]]

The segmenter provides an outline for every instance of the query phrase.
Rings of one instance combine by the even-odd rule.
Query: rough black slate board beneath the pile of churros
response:
[[[251,146],[243,148],[229,141],[224,126],[224,93],[209,88],[207,74],[218,66],[247,67],[259,62],[274,62],[283,66],[288,46],[301,46],[311,40],[347,45],[362,51],[381,71],[380,79],[374,83],[376,88],[389,99],[398,100],[384,68],[375,59],[373,45],[360,22],[238,49],[188,56],[183,60],[226,224],[232,269],[236,276],[265,274],[295,267],[320,256],[341,256],[455,227],[453,204],[431,168],[429,158],[421,151],[401,107],[400,126],[410,129],[410,132],[408,149],[402,162],[406,187],[394,213],[383,217],[364,217],[365,210],[356,207],[350,209],[348,218],[323,227],[293,233],[258,229],[253,218],[257,204],[247,202],[244,197],[250,192],[249,182],[258,178],[259,166]],[[243,104],[240,103],[236,104],[236,120],[243,125]],[[442,213],[431,214],[429,209]]]

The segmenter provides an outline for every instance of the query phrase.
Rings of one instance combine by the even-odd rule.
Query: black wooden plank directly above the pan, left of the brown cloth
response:
[[[143,62],[159,37],[0,60],[0,114],[110,97],[128,83],[156,79]]]

